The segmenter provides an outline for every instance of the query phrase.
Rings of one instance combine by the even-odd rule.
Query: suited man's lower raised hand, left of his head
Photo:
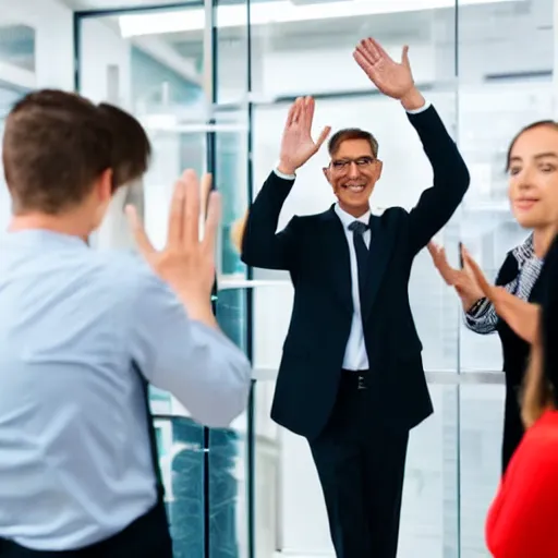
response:
[[[278,170],[284,174],[294,174],[313,155],[315,155],[331,132],[324,128],[317,142],[312,140],[312,121],[315,102],[312,97],[298,98],[287,118]]]

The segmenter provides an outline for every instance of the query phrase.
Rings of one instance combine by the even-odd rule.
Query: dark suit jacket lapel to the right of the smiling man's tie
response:
[[[366,270],[366,289],[363,305],[362,316],[367,319],[376,298],[378,295],[379,287],[384,280],[384,275],[388,267],[391,257],[393,242],[396,240],[395,231],[388,231],[387,221],[376,217],[371,217],[371,248],[368,253],[368,266]]]

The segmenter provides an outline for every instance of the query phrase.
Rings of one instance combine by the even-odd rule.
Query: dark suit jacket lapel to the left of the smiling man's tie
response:
[[[323,214],[325,222],[324,246],[328,258],[326,269],[333,296],[337,296],[342,306],[353,313],[351,258],[343,225],[336,215],[333,207]]]

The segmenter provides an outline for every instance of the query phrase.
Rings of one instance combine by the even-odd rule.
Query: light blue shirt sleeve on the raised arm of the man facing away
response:
[[[220,330],[189,318],[149,269],[137,277],[132,357],[153,386],[172,393],[195,421],[226,427],[246,408],[250,362]]]

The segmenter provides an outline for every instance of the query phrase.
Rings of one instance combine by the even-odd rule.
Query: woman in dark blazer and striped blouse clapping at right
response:
[[[494,303],[484,295],[466,257],[463,269],[453,269],[444,248],[433,243],[428,245],[435,266],[461,298],[466,326],[481,335],[497,332],[500,337],[506,375],[502,472],[524,434],[519,392],[535,323],[533,306],[527,303],[541,300],[539,275],[557,222],[558,124],[542,121],[521,130],[509,147],[507,172],[511,210],[518,222],[531,229],[532,234],[507,254],[496,284],[514,295],[512,300],[519,305],[522,319],[517,324],[502,319]]]

